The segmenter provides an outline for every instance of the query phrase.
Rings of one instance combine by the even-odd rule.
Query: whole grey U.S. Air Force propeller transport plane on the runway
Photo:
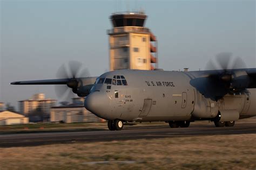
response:
[[[240,60],[228,68],[229,57],[223,60],[220,55],[217,59],[220,69],[124,69],[99,77],[77,78],[78,67],[73,67],[69,78],[11,84],[66,84],[73,93],[86,96],[84,107],[106,119],[109,130],[122,130],[124,124],[156,121],[169,123],[171,128],[187,128],[190,122],[204,120],[223,127],[256,116],[256,68],[235,68]]]

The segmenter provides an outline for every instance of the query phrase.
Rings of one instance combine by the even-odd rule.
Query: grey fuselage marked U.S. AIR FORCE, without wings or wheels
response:
[[[85,99],[85,108],[107,120],[128,122],[212,120],[220,113],[223,121],[236,121],[256,115],[256,89],[228,93],[214,100],[195,87],[193,80],[198,74],[157,70],[108,72],[98,77]],[[104,83],[106,79],[109,80]]]

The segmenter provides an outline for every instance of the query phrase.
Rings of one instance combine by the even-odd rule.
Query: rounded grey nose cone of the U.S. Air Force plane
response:
[[[105,118],[109,109],[109,100],[105,94],[95,91],[85,98],[84,107],[96,116]]]

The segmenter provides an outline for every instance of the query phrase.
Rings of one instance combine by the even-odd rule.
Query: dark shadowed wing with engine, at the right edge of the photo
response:
[[[256,88],[256,68],[204,70],[187,74],[191,77],[190,84],[212,100],[230,91],[239,93],[246,88]]]

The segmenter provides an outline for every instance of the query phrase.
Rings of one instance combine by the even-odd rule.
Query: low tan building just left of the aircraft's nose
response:
[[[73,103],[62,105],[60,107],[52,107],[50,121],[51,122],[104,122],[84,108],[84,97],[72,98]]]

